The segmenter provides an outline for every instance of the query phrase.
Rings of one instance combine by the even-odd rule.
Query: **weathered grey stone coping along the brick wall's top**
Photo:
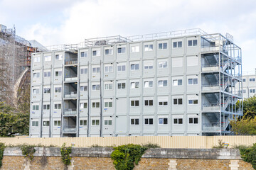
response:
[[[35,147],[35,157],[43,156],[43,147]],[[110,157],[111,147],[73,147],[71,157]],[[60,157],[59,147],[46,147],[47,157]],[[23,156],[19,147],[6,147],[4,156]],[[142,158],[166,159],[241,159],[239,149],[147,149]]]

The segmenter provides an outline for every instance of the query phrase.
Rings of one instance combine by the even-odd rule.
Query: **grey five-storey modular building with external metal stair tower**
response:
[[[55,45],[32,57],[31,137],[230,135],[241,49],[200,29]]]

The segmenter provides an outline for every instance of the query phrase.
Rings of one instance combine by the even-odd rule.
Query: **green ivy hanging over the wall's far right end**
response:
[[[252,147],[240,147],[240,155],[245,162],[249,162],[256,169],[256,143]]]

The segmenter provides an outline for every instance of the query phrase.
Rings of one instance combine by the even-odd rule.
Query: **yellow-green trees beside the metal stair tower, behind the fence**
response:
[[[240,101],[237,105],[239,106]],[[256,135],[256,96],[243,101],[243,117],[231,120],[230,125],[235,135]]]

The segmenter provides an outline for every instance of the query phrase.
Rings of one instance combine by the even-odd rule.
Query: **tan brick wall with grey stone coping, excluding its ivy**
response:
[[[36,148],[33,160],[19,148],[6,148],[1,169],[114,169],[112,148],[73,148],[71,164],[64,166],[60,148]],[[42,156],[46,156],[43,162]],[[134,169],[252,169],[238,149],[148,149]]]

